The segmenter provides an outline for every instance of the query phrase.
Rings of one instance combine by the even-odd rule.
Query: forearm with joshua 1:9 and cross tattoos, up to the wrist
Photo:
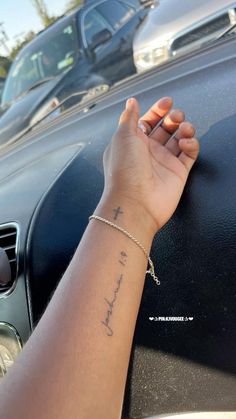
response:
[[[138,206],[109,197],[96,214],[128,230],[149,252],[153,226]],[[146,267],[132,240],[100,221],[89,223],[52,302],[3,382],[0,416],[119,417]],[[8,386],[14,405],[7,402]]]

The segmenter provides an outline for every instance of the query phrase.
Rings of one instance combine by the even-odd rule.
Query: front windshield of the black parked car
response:
[[[68,70],[75,62],[78,49],[74,25],[66,24],[46,33],[22,50],[15,59],[3,92],[2,104],[9,103],[34,86]]]

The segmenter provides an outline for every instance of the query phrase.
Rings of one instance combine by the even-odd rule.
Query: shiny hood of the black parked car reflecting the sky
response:
[[[20,96],[3,111],[0,117],[0,144],[4,144],[29,125],[37,110],[45,103],[46,99],[51,97],[61,78],[61,76],[56,77],[35,87],[27,94]]]

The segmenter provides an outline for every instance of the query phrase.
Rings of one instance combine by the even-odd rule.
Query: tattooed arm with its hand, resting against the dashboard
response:
[[[172,138],[183,113],[177,118],[173,111],[162,121],[171,104],[162,98],[144,115],[147,136],[138,128],[138,103],[128,100],[104,153],[105,191],[116,195],[103,197],[96,213],[129,231],[147,252],[156,230],[173,214],[199,150],[190,124],[180,125],[178,138]],[[0,417],[119,417],[146,267],[131,239],[91,221],[1,384]]]

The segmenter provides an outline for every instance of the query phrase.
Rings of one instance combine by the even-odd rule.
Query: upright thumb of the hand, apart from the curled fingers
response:
[[[119,131],[137,133],[139,120],[139,104],[135,98],[126,101],[125,110],[119,120]]]

